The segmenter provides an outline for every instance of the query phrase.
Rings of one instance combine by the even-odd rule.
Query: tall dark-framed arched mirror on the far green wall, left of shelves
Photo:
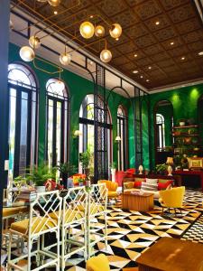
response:
[[[173,107],[170,101],[161,100],[154,107],[155,163],[163,164],[172,153]]]

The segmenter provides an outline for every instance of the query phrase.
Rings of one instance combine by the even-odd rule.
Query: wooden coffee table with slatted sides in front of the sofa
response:
[[[152,210],[153,193],[124,192],[122,195],[122,205],[123,209],[143,211]]]

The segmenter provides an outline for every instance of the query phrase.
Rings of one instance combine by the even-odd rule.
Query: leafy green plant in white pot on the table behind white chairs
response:
[[[26,174],[26,179],[35,184],[37,192],[45,192],[45,182],[49,179],[55,180],[56,168],[49,167],[47,164],[34,165],[30,173]]]

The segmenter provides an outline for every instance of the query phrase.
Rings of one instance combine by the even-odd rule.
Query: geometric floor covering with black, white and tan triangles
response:
[[[202,241],[203,232],[199,231],[200,227],[203,228],[202,199],[202,192],[187,191],[182,215],[178,211],[177,217],[173,213],[162,214],[161,207],[156,205],[150,212],[122,210],[121,201],[118,201],[115,206],[108,207],[107,249],[103,242],[98,241],[94,255],[106,254],[111,270],[135,271],[138,270],[136,258],[161,237],[189,239],[193,236],[195,227],[198,237],[195,241]],[[93,226],[97,232],[103,232],[103,218],[94,220]],[[86,270],[83,256],[79,254],[69,258],[66,266],[66,270],[69,271]]]

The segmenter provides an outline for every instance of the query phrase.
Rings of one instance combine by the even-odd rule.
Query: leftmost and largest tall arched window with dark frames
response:
[[[8,66],[9,87],[9,176],[23,175],[37,161],[36,80],[20,63]]]

